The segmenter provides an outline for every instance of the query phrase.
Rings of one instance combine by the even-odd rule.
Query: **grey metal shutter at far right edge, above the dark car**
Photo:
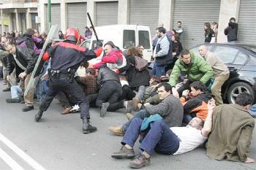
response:
[[[256,45],[256,1],[241,0],[238,15],[238,42]]]

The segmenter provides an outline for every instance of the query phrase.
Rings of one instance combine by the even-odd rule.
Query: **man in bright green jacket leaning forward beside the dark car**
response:
[[[187,76],[188,80],[176,90],[175,85],[180,75]],[[203,58],[189,53],[188,50],[182,50],[181,57],[176,61],[173,72],[170,74],[169,84],[173,87],[173,95],[181,96],[182,91],[188,90],[192,82],[200,81],[208,84],[213,75],[213,69]]]

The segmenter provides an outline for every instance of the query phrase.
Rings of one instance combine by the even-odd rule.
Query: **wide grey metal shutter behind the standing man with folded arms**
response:
[[[190,48],[204,43],[204,23],[219,21],[220,0],[176,0],[174,2],[173,28],[178,20],[184,28],[182,45]]]

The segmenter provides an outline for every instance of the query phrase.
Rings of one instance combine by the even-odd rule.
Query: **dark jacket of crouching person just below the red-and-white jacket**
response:
[[[115,80],[120,83],[118,74],[109,69],[105,64],[99,67],[99,74],[97,77],[97,84],[99,87],[108,80]]]

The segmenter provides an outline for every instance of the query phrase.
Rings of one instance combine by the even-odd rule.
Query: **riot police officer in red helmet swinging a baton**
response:
[[[78,30],[69,28],[64,42],[52,45],[42,56],[43,61],[51,58],[51,69],[48,71],[50,82],[49,89],[42,99],[35,120],[38,122],[41,119],[42,113],[48,109],[56,93],[63,91],[71,94],[78,101],[81,109],[80,118],[83,120],[83,134],[89,134],[97,131],[97,128],[90,124],[89,102],[86,100],[86,96],[78,82],[74,80],[74,76],[80,63],[99,56],[102,53],[102,47],[98,47],[94,51],[78,47],[76,45],[78,38]]]

